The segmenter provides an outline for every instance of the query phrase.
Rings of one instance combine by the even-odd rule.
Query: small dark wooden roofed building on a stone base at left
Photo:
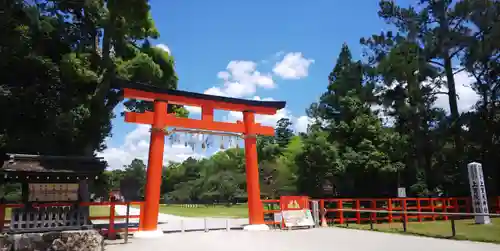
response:
[[[90,227],[89,209],[79,203],[88,202],[88,185],[105,168],[106,162],[95,157],[8,154],[0,168],[0,184],[20,184],[22,198],[16,203],[24,206],[12,209],[6,230],[15,233]],[[0,210],[0,216],[4,215],[5,209]]]

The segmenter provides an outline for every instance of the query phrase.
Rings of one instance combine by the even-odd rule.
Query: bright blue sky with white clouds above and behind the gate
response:
[[[359,39],[387,29],[377,16],[376,0],[150,3],[161,34],[154,43],[168,46],[175,57],[179,89],[286,101],[286,110],[278,116],[290,117],[297,130],[306,127],[305,109],[325,91],[342,44],[350,46],[354,58],[361,58]],[[231,83],[235,88],[228,89]],[[216,116],[221,121],[238,117],[227,112]],[[273,125],[277,117],[260,119]],[[117,114],[112,133],[102,153],[111,168],[147,157],[145,128],[124,123]],[[165,158],[190,155],[181,148],[167,146]]]

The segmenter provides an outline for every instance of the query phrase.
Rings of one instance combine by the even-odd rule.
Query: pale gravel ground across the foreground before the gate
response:
[[[500,245],[343,228],[294,231],[172,233],[158,239],[130,239],[105,250],[172,251],[500,251]]]

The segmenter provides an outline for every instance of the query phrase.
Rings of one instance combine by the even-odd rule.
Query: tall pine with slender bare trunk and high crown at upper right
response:
[[[438,80],[432,83],[433,87],[439,88],[440,85],[446,87],[447,91],[445,94],[448,95],[450,107],[447,126],[451,129],[452,141],[450,143],[454,144],[454,152],[447,153],[445,157],[447,163],[445,165],[448,165],[448,167],[445,169],[448,172],[447,179],[449,179],[450,184],[456,183],[465,187],[467,175],[463,155],[464,143],[461,137],[462,126],[455,83],[455,74],[463,70],[463,67],[458,64],[458,59],[460,59],[464,49],[467,47],[466,37],[471,32],[467,18],[461,16],[461,13],[466,11],[464,7],[465,5],[456,5],[451,0],[421,0],[419,1],[418,8],[415,6],[403,8],[394,3],[394,1],[383,0],[380,1],[378,14],[387,23],[396,28],[398,35],[395,36],[396,39],[393,40],[392,44],[396,43],[396,47],[400,47],[404,43],[412,44],[413,47],[418,49],[413,50],[418,52],[417,57],[423,58],[424,62],[431,64],[440,76],[439,79],[436,77],[433,78],[434,80]],[[392,37],[391,34],[392,32],[387,32],[385,37]],[[379,56],[384,57],[380,53]],[[423,69],[420,67],[418,70],[422,71]],[[412,92],[418,89],[412,88]],[[414,110],[414,108],[416,107],[412,108],[410,106],[410,110]],[[418,117],[420,116],[415,116],[414,120],[417,120],[416,118]],[[413,124],[415,123],[417,121],[413,122]],[[421,138],[417,134],[425,135],[426,131],[425,128],[423,131],[417,131],[416,128],[413,128],[413,130],[416,133],[413,137],[415,140]],[[418,165],[426,166],[425,169],[429,172],[429,153],[418,153],[418,155],[422,156],[421,159],[424,159],[423,156],[427,155],[427,164],[424,164],[423,161],[418,161],[418,157],[416,157],[416,161],[420,162]],[[434,183],[432,181],[430,185],[434,186]]]

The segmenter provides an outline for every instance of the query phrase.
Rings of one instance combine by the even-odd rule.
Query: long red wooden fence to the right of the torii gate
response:
[[[319,201],[320,212],[326,212],[325,220],[330,223],[344,224],[348,222],[365,223],[370,219],[374,222],[393,222],[395,220],[448,220],[448,216],[438,214],[392,214],[391,211],[436,212],[436,213],[471,213],[472,204],[469,197],[452,198],[385,198],[385,199],[315,199]],[[280,212],[279,200],[263,200],[264,214]],[[490,213],[500,213],[500,196],[490,198]],[[342,209],[383,210],[389,213],[346,212]],[[371,215],[370,215],[371,214]],[[464,217],[465,218],[465,217]],[[266,224],[280,224],[267,221]]]

